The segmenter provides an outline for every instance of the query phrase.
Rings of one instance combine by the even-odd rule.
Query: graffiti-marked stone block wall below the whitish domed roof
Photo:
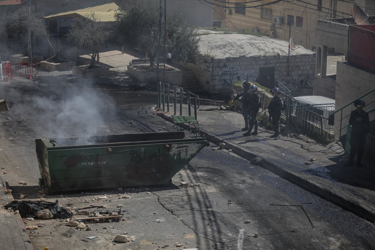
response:
[[[288,75],[287,56],[205,58],[196,64],[187,64],[202,87],[209,93],[229,97],[237,75],[244,80],[258,81],[260,68],[275,68],[275,80],[281,81],[293,95],[312,94],[315,77],[315,54],[291,56]]]

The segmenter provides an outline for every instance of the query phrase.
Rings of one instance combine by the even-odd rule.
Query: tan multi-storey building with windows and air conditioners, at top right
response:
[[[317,20],[349,17],[353,3],[366,14],[375,15],[374,0],[282,1],[273,4],[270,4],[273,0],[209,2],[214,3],[213,25],[216,27],[231,31],[246,28],[285,41],[293,37],[297,44],[313,51],[317,43]]]

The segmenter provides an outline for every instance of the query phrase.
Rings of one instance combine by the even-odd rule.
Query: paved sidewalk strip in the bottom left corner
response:
[[[11,193],[6,194],[4,192],[8,188],[2,171],[0,179],[0,250],[33,250],[20,214],[8,212],[3,208],[3,206],[13,201],[13,196]]]

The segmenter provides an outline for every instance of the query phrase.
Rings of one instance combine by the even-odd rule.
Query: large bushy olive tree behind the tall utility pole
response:
[[[139,1],[120,6],[116,14],[116,34],[120,42],[130,48],[138,48],[148,53],[150,67],[159,50],[159,1],[142,4]],[[162,14],[164,17],[164,15]],[[172,59],[183,62],[196,62],[199,56],[199,38],[194,35],[185,17],[180,13],[170,15],[166,21],[166,41]],[[164,27],[164,26],[163,26]],[[161,30],[164,43],[164,28]]]

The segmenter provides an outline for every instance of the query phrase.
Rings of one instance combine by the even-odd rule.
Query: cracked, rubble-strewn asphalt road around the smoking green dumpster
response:
[[[130,90],[131,83],[129,78],[91,83],[61,76],[2,84],[0,92],[10,110],[0,113],[0,163],[15,199],[20,194],[29,200],[40,197],[36,138],[172,130],[170,122],[152,112],[156,94]],[[90,212],[117,211],[121,204],[125,220],[87,224],[90,231],[58,219],[34,221],[46,224],[29,232],[34,249],[375,248],[373,224],[231,152],[213,150],[216,147],[204,148],[170,186],[45,196],[70,208],[107,205]],[[183,188],[181,181],[200,185]],[[124,193],[130,199],[120,198]],[[108,201],[96,200],[104,194]],[[125,231],[134,241],[113,242]],[[184,246],[177,247],[181,243]]]

